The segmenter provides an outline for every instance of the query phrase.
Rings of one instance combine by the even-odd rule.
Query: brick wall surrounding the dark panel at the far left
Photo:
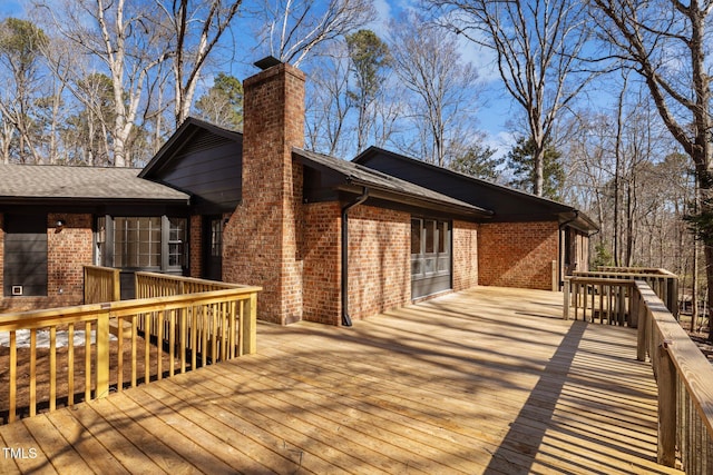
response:
[[[59,230],[57,221],[65,227]],[[0,269],[3,269],[4,240],[0,215]],[[84,301],[84,266],[94,264],[91,215],[49,214],[47,216],[47,297],[0,296],[0,311],[22,311],[80,305]],[[2,285],[0,273],[0,286]],[[1,288],[1,287],[0,287]]]

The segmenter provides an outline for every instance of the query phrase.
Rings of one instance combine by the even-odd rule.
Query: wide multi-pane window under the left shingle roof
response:
[[[111,217],[97,219],[97,251],[105,266],[178,270],[187,265],[187,219]]]

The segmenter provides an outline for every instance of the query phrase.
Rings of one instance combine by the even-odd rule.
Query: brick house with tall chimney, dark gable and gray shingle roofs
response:
[[[141,170],[0,166],[0,311],[79,304],[81,266],[98,264],[123,269],[125,297],[149,269],[261,285],[264,320],[349,325],[478,284],[530,286],[495,275],[528,266],[507,268],[527,232],[546,243],[526,251],[537,266],[558,259],[565,211],[510,232],[475,199],[304,150],[304,75],[260,66],[243,133],[191,118]]]

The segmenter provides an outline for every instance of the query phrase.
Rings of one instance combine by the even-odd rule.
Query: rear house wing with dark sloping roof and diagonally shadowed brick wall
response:
[[[588,270],[589,236],[598,228],[572,206],[377,147],[353,161],[491,210],[479,226],[480,285],[547,290],[574,270]]]

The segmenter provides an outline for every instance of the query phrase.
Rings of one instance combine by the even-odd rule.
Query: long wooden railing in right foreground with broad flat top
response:
[[[651,357],[658,386],[658,463],[713,473],[713,367],[664,301],[644,281],[632,288],[637,359]]]

